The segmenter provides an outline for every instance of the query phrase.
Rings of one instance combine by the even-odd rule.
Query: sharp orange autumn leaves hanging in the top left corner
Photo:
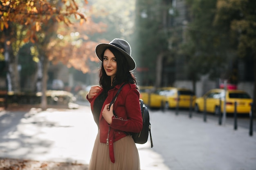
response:
[[[39,31],[41,25],[50,19],[70,25],[71,15],[76,19],[79,16],[82,23],[85,16],[77,10],[78,4],[74,0],[0,0],[0,29],[8,29],[9,22],[15,22],[31,26],[31,31]]]

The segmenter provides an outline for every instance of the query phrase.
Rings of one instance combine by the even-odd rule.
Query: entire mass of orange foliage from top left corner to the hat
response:
[[[83,1],[88,4],[87,0]],[[91,41],[88,35],[105,31],[106,24],[92,22],[90,15],[85,17],[79,10],[79,7],[85,9],[82,5],[84,3],[75,0],[0,0],[0,30],[10,29],[11,23],[18,24],[26,29],[22,42],[40,45],[49,33],[55,32],[58,36],[50,37],[47,49],[43,49],[45,57],[53,64],[62,62],[87,73],[90,71],[88,61],[99,61],[95,46],[103,42]],[[86,8],[90,12],[90,7]]]

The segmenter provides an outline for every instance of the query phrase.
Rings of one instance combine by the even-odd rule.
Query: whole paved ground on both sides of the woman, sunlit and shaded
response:
[[[246,128],[175,110],[150,110],[150,123],[153,148],[136,144],[141,170],[256,170],[256,137]],[[88,164],[96,135],[89,106],[0,111],[2,158]]]

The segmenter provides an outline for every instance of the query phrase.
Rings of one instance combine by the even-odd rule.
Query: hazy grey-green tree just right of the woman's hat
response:
[[[168,33],[164,21],[168,7],[170,5],[158,0],[136,1],[133,49],[139,59],[137,71],[141,71],[140,85],[161,85],[162,59],[168,56],[169,52]],[[156,78],[157,82],[154,81]]]

